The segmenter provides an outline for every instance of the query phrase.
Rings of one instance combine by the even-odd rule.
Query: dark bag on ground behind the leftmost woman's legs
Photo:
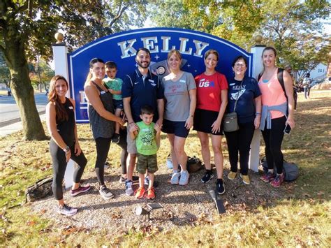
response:
[[[29,200],[33,202],[45,198],[47,196],[52,196],[52,182],[53,177],[45,177],[41,180],[38,180],[34,185],[27,187],[25,191],[25,202]]]

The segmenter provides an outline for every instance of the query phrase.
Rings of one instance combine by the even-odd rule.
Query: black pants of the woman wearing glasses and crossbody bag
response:
[[[248,174],[249,168],[249,150],[251,149],[251,139],[254,134],[254,122],[239,123],[239,130],[234,132],[224,132],[226,143],[228,143],[228,152],[231,171],[237,172],[238,152],[240,154],[240,173]]]

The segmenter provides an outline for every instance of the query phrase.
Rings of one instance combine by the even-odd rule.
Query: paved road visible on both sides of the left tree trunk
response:
[[[34,95],[36,107],[40,114],[45,112],[47,96],[45,93]],[[20,112],[13,96],[0,96],[0,127],[20,122]]]

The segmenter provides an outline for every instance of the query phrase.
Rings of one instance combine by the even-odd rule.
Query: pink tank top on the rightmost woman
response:
[[[286,97],[281,84],[277,78],[277,70],[268,82],[263,82],[263,76],[258,81],[258,87],[260,87],[262,105],[274,106],[280,105],[286,102]],[[271,119],[283,117],[284,114],[277,110],[270,111]]]

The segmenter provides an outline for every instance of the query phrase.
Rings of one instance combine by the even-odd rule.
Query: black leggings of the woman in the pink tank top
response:
[[[271,129],[262,131],[263,140],[265,140],[265,156],[267,158],[267,167],[271,170],[274,166],[277,173],[283,173],[283,153],[281,152],[281,143],[284,138],[286,117],[279,117],[271,120]],[[267,126],[267,124],[265,124]]]

